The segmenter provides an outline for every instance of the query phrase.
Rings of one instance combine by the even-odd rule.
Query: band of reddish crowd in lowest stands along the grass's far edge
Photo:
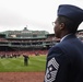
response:
[[[0,51],[1,58],[12,58],[12,57],[20,57],[23,54],[29,56],[39,56],[39,55],[47,55],[47,50],[24,50],[24,51]]]

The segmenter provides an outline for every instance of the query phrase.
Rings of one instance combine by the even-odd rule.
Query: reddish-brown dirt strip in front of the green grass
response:
[[[45,72],[0,72],[0,82],[44,82]]]

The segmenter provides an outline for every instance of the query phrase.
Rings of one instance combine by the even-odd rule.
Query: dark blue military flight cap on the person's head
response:
[[[83,21],[83,9],[72,4],[60,4],[58,15],[63,15],[80,24]]]

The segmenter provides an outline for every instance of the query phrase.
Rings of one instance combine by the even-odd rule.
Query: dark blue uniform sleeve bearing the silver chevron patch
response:
[[[58,47],[49,50],[44,82],[68,82],[69,57]]]

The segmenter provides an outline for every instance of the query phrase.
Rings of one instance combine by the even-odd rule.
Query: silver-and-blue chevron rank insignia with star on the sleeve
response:
[[[59,68],[59,63],[56,61],[55,58],[48,61],[46,75],[45,75],[45,82],[52,82],[56,80],[58,68]]]

